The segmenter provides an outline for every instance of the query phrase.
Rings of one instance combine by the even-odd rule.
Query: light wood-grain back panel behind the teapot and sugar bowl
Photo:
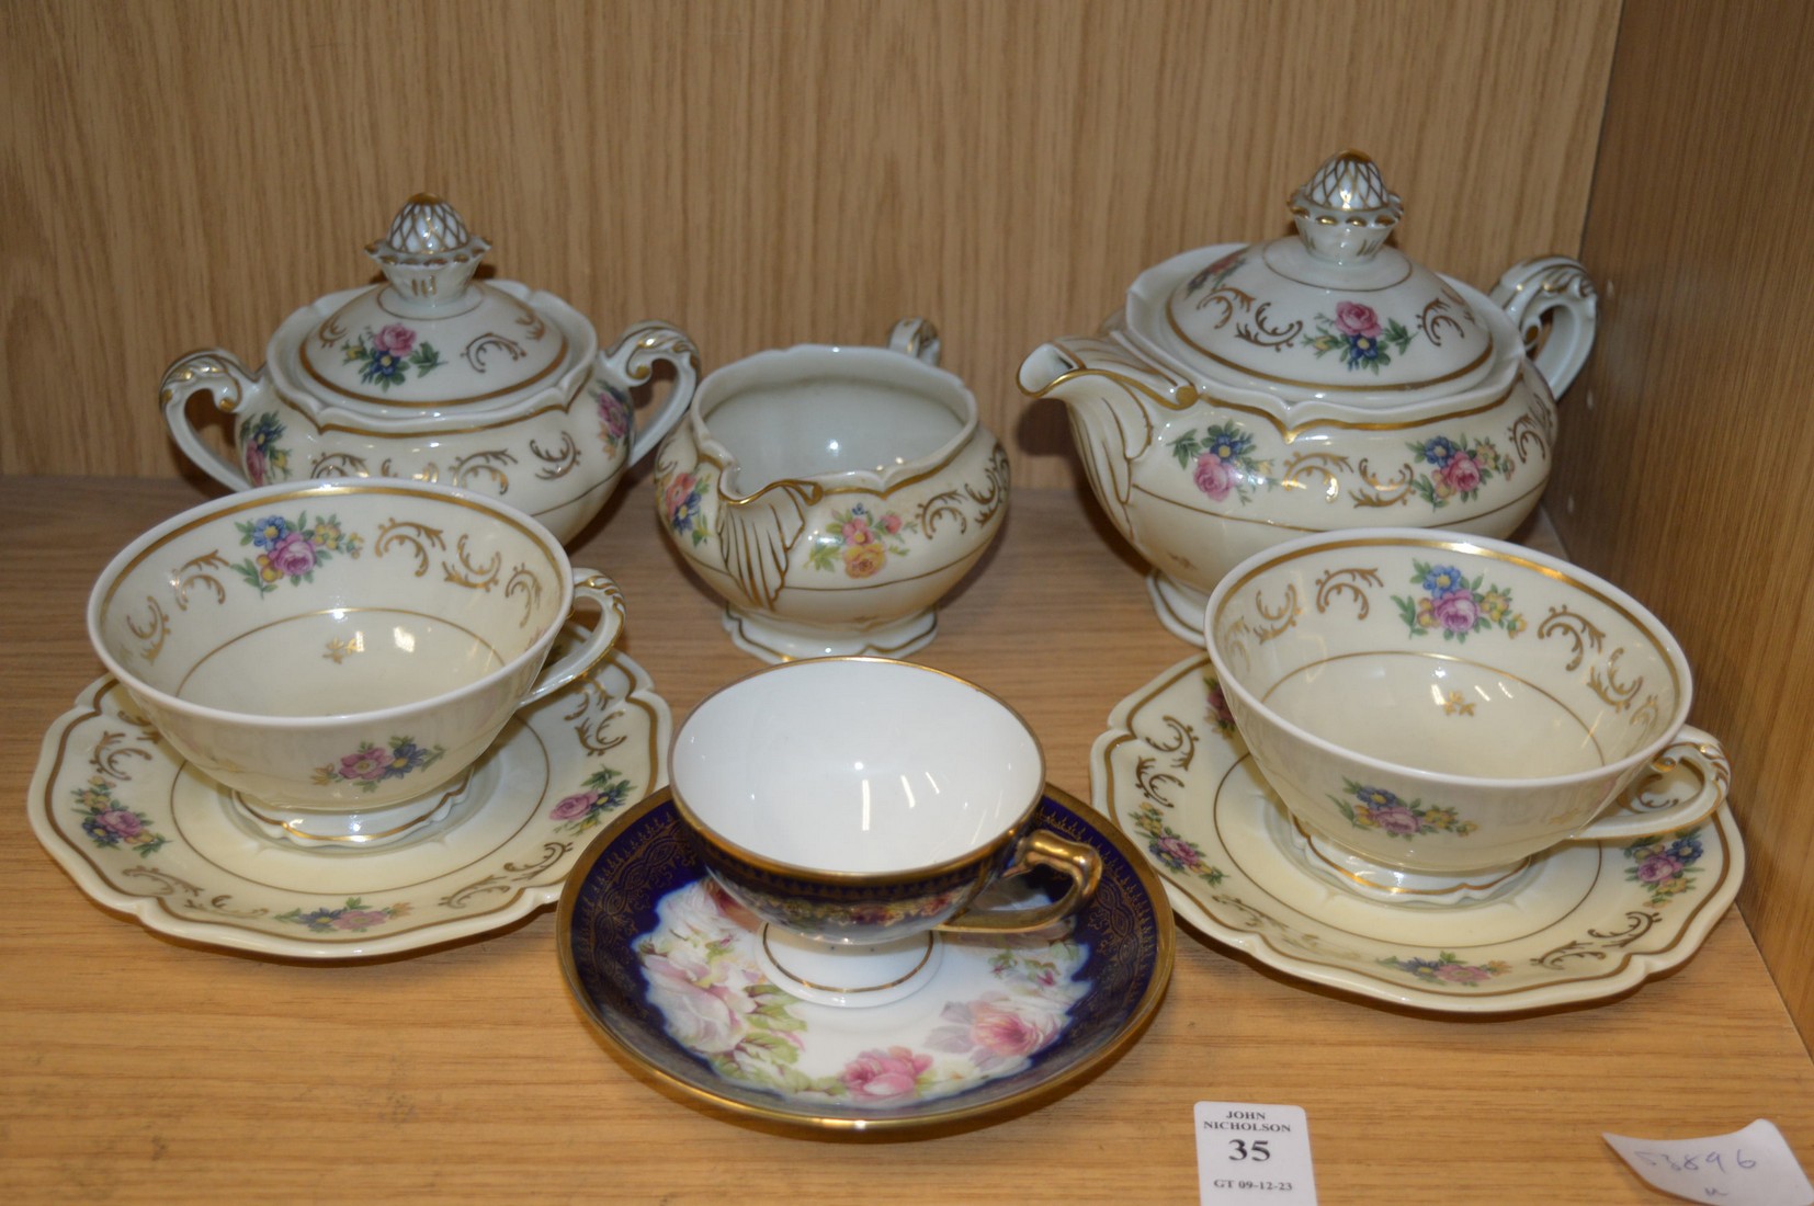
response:
[[[1156,259],[1288,229],[1371,152],[1406,250],[1482,287],[1578,247],[1616,0],[11,0],[0,5],[0,472],[178,468],[169,361],[247,363],[372,274],[417,190],[499,276],[707,366],[945,334],[1068,484],[1019,359]]]

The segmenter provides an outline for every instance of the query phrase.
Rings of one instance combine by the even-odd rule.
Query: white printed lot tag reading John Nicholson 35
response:
[[[1195,1123],[1203,1206],[1317,1206],[1301,1106],[1199,1101]]]

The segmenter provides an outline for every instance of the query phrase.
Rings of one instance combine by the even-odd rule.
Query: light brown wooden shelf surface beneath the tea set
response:
[[[1099,1075],[885,1143],[736,1123],[608,1054],[562,985],[551,910],[332,967],[154,936],[74,887],[22,802],[42,734],[102,673],[82,620],[96,573],[203,497],[183,481],[0,477],[4,1201],[1190,1202],[1201,1099],[1304,1106],[1326,1202],[1653,1202],[1602,1130],[1712,1135],[1756,1117],[1814,1162],[1814,1065],[1736,910],[1620,999],[1502,1019],[1312,988],[1185,930],[1168,999]],[[624,588],[626,647],[677,722],[755,667],[662,544],[646,477],[575,562]],[[1094,504],[1029,490],[920,660],[1012,702],[1052,782],[1087,798],[1108,711],[1188,653]]]

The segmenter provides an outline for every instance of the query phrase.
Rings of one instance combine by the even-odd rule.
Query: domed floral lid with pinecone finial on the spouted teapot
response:
[[[1181,258],[1165,330],[1143,334],[1212,381],[1293,401],[1386,408],[1493,372],[1487,321],[1449,281],[1386,247],[1404,205],[1373,160],[1331,156],[1290,209],[1295,236],[1206,248],[1208,263]]]

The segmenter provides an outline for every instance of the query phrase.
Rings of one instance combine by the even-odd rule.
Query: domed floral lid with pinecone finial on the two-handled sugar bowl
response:
[[[561,323],[473,279],[492,245],[434,194],[410,198],[366,254],[385,274],[301,337],[305,386],[354,408],[495,403],[551,383]]]

